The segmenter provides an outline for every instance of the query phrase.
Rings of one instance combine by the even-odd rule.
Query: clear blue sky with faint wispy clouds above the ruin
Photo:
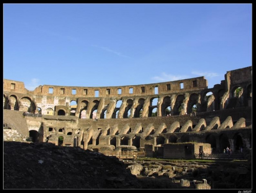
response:
[[[4,4],[4,79],[124,86],[252,65],[252,4]]]

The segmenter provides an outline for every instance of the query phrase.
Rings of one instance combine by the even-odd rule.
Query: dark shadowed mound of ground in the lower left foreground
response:
[[[4,189],[141,188],[116,157],[52,143],[4,141]]]

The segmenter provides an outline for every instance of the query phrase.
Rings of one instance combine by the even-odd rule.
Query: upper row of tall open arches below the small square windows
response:
[[[74,115],[79,116],[79,118],[95,118],[97,116],[97,118],[132,118],[179,115],[182,112],[183,114],[194,111],[204,112],[220,110],[225,94],[226,91],[224,89],[205,89],[201,93],[173,94],[161,96],[160,98],[153,96],[152,98],[122,99],[109,104],[103,104],[104,102],[102,103],[100,100],[93,100],[92,102],[82,100],[77,104],[75,100],[72,100],[69,112],[65,109],[59,109],[57,115]],[[250,106],[249,101],[251,101],[252,97],[251,84],[233,86],[230,88],[228,96],[229,100],[226,100],[224,108]],[[4,94],[4,109],[38,114],[44,111],[43,114],[48,115],[54,115],[55,113],[51,107],[47,109],[37,107],[36,102],[29,96],[24,96],[18,100],[14,94],[10,96]]]

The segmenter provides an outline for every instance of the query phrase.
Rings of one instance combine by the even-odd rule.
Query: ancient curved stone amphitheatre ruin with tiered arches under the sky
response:
[[[202,147],[209,154],[249,150],[252,66],[227,71],[224,79],[213,88],[196,77],[110,87],[40,85],[33,91],[4,79],[4,140],[163,157],[172,157],[175,146],[188,149],[187,156]]]

